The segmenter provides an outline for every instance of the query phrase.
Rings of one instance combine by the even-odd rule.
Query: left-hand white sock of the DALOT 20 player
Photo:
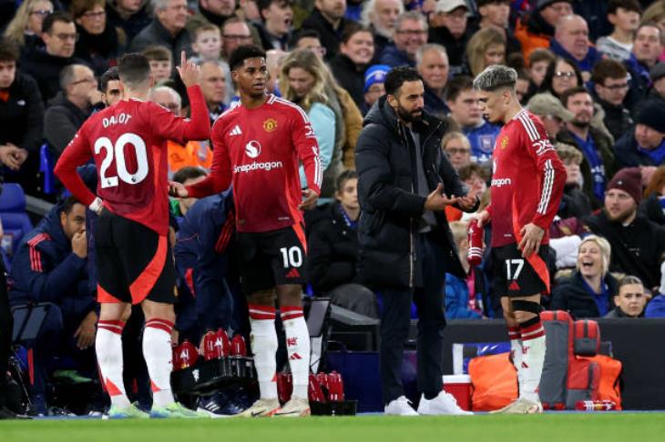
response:
[[[129,407],[129,399],[122,380],[122,329],[124,327],[125,323],[122,321],[99,320],[95,338],[97,365],[102,381],[111,398],[111,405],[120,408]]]

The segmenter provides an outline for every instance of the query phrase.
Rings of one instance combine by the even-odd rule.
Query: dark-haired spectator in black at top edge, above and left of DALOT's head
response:
[[[69,10],[79,35],[74,54],[102,75],[120,52],[118,29],[107,22],[105,0],[73,0]]]

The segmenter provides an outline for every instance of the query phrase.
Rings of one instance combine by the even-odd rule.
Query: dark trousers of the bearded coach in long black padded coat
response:
[[[404,396],[402,362],[404,343],[411,324],[411,300],[418,310],[418,390],[433,398],[443,388],[443,343],[445,329],[444,249],[425,235],[417,236],[423,286],[380,290],[384,294],[379,351],[384,403]]]

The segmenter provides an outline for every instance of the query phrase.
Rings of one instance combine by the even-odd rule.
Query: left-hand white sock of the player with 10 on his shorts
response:
[[[271,306],[250,306],[251,352],[254,354],[254,367],[259,379],[261,399],[277,398],[277,330],[275,329],[275,308]]]

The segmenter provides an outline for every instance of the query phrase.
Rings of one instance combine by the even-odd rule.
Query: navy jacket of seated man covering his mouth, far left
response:
[[[72,252],[71,240],[60,224],[61,205],[51,209],[21,240],[12,260],[13,306],[52,302],[65,316],[86,316],[95,310],[87,286],[87,259]]]

